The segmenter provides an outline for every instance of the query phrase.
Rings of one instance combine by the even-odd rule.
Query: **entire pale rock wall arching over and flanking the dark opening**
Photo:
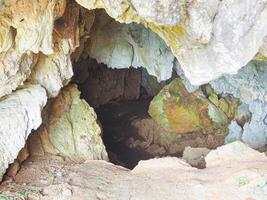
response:
[[[230,125],[234,138],[266,144],[266,0],[76,2],[0,1],[1,169],[41,124],[46,98],[68,84],[72,62],[88,56],[112,68],[145,67],[159,81],[174,67],[192,91],[212,81],[219,95],[248,107],[250,119]]]

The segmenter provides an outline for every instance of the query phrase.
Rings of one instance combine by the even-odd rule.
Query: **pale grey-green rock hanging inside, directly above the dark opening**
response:
[[[105,12],[97,12],[88,51],[110,68],[144,67],[158,81],[172,75],[174,56],[157,34],[139,24],[120,24]]]

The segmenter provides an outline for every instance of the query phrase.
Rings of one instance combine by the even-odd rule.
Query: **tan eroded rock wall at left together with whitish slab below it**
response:
[[[59,30],[54,26],[65,8],[70,10],[72,4],[66,3],[65,0],[1,1],[0,97],[25,83],[38,84],[15,91],[0,101],[6,115],[1,117],[1,176],[25,145],[31,130],[41,124],[40,114],[47,96],[56,96],[72,76],[70,53],[77,46],[72,37],[77,35],[77,23],[68,26],[69,35],[62,34],[66,28]],[[70,27],[75,31],[70,31]]]

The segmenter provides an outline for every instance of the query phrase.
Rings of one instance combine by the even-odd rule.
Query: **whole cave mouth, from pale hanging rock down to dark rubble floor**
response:
[[[224,130],[202,134],[189,129],[181,134],[164,129],[148,115],[153,97],[181,75],[178,61],[157,34],[140,24],[120,24],[103,10],[85,11],[80,24],[72,82],[97,113],[111,162],[133,168],[140,160],[181,157],[187,146],[212,149],[224,143]],[[198,110],[197,97],[189,96],[185,92],[183,102]]]

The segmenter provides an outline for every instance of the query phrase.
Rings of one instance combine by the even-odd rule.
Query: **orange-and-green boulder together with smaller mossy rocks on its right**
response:
[[[174,79],[153,98],[149,114],[162,128],[183,134],[229,123],[235,104],[212,92],[208,98],[189,93],[180,79]]]

